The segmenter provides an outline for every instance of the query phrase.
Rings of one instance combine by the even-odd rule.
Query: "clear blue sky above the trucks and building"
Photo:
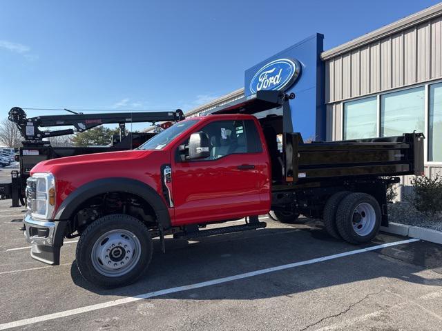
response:
[[[12,106],[189,110],[314,32],[327,50],[437,2],[3,0],[0,119]]]

